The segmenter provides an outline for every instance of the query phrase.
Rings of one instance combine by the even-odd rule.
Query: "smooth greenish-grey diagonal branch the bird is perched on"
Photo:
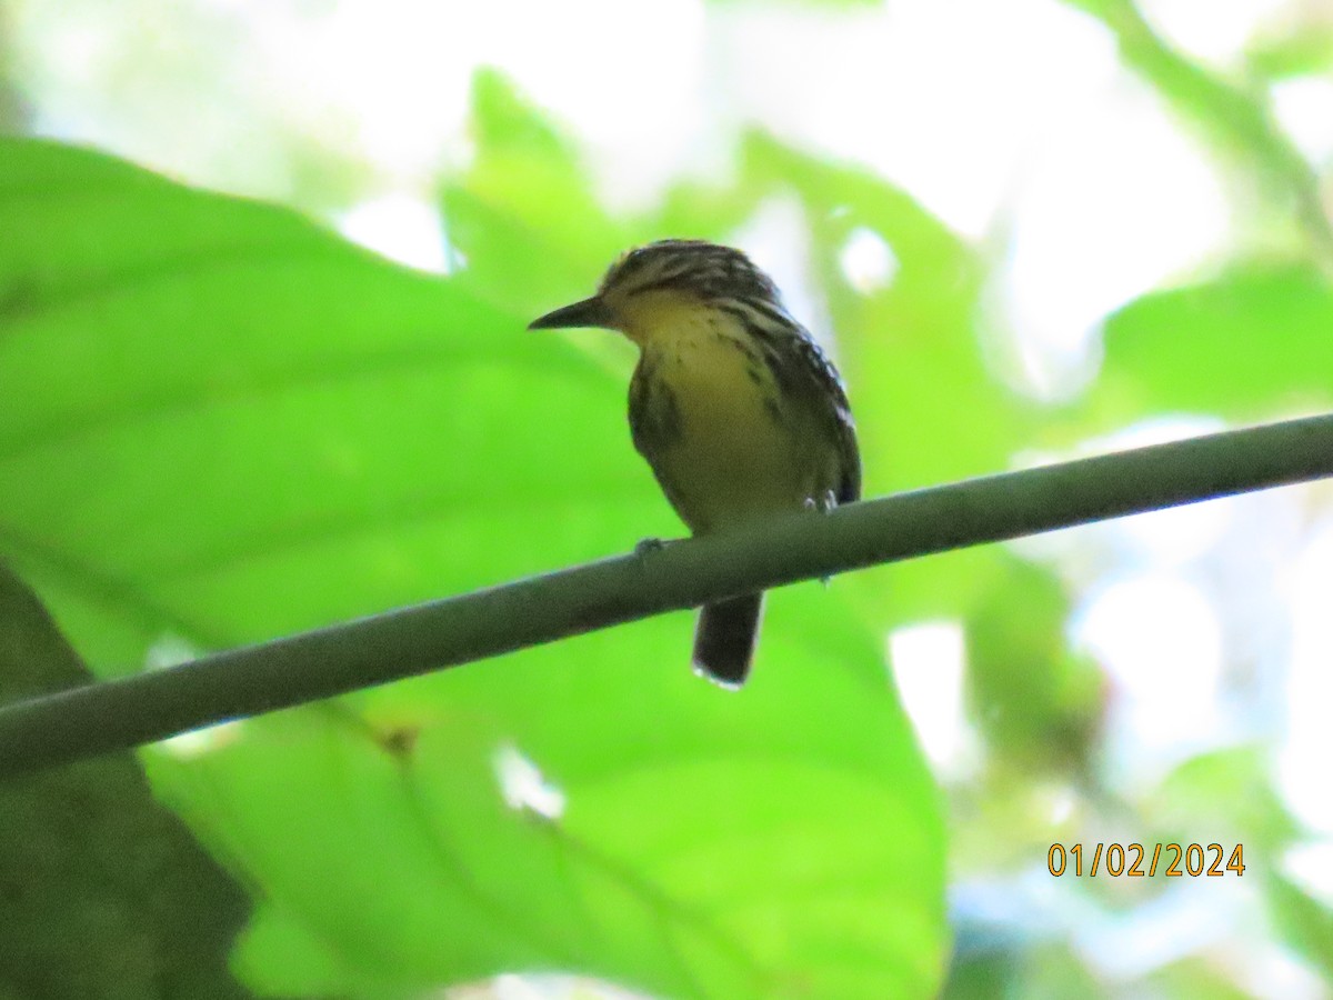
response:
[[[1330,475],[1333,413],[780,517],[20,701],[0,708],[0,777],[753,589]]]

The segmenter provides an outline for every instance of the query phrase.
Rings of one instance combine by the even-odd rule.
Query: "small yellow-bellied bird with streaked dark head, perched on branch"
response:
[[[661,240],[629,251],[591,299],[529,329],[603,327],[640,351],[629,431],[694,535],[857,500],[861,456],[837,369],[730,247]],[[762,593],[704,607],[694,668],[729,688],[749,673]]]

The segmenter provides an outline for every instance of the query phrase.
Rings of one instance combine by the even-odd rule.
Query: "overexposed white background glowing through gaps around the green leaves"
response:
[[[1173,44],[1222,71],[1289,9],[1284,0],[1140,7]],[[873,167],[958,232],[997,248],[996,321],[1016,339],[1037,396],[1068,396],[1089,377],[1109,311],[1206,273],[1238,239],[1234,192],[1206,151],[1121,68],[1098,23],[1054,0],[892,0],[837,15],[701,0],[9,0],[8,8],[16,76],[40,132],[201,185],[295,201],[433,269],[447,256],[435,183],[441,165],[468,160],[479,65],[511,75],[564,123],[613,205],[647,204],[682,173],[725,173],[722,139],[738,123],[762,124]],[[1333,81],[1297,80],[1272,97],[1306,155],[1333,156]],[[312,195],[289,175],[291,135],[349,164],[355,197]],[[740,241],[818,327],[797,228],[794,213],[776,207]],[[896,263],[866,233],[849,244],[844,265],[853,281],[880,284],[892,281]],[[1092,447],[1214,427],[1206,415],[1166,419]],[[1333,759],[1333,519],[1324,515],[1310,544],[1298,528],[1304,496],[1242,497],[1020,547],[1053,560],[1085,595],[1070,635],[1104,663],[1114,688],[1108,765],[1125,789],[1237,735],[1280,739],[1290,807],[1333,836],[1325,764]],[[1270,652],[1237,685],[1224,676],[1224,651],[1245,641]],[[977,751],[962,719],[961,629],[921,623],[889,645],[938,772],[965,780]],[[1248,700],[1237,703],[1237,691]],[[1333,901],[1329,843],[1293,867]],[[1221,941],[1245,927],[1236,915],[1194,916],[1168,909],[1150,927],[1174,928],[1168,945],[1197,933]],[[1173,953],[1141,932],[1106,940],[1118,949],[1089,944],[1093,959],[1124,975]],[[1309,985],[1281,955],[1258,963],[1260,987],[1285,991],[1293,975]]]

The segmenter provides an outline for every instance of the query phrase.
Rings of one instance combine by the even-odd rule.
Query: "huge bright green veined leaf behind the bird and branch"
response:
[[[104,673],[674,531],[619,373],[459,280],[44,143],[0,144],[0,556]],[[260,989],[926,995],[940,804],[844,589],[774,595],[740,695],[690,676],[676,615],[151,773],[255,885]],[[497,755],[564,811],[507,805]]]

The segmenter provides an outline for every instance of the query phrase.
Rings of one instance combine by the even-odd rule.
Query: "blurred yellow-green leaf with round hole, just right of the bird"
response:
[[[1006,468],[1030,444],[1036,412],[988,369],[974,317],[978,256],[900,188],[854,167],[829,165],[754,135],[746,171],[769,189],[793,189],[814,235],[821,287],[849,387],[868,496]],[[882,240],[896,271],[858,291],[842,269],[857,233]],[[880,627],[966,615],[998,585],[992,548],[974,548],[860,573],[850,581]]]

